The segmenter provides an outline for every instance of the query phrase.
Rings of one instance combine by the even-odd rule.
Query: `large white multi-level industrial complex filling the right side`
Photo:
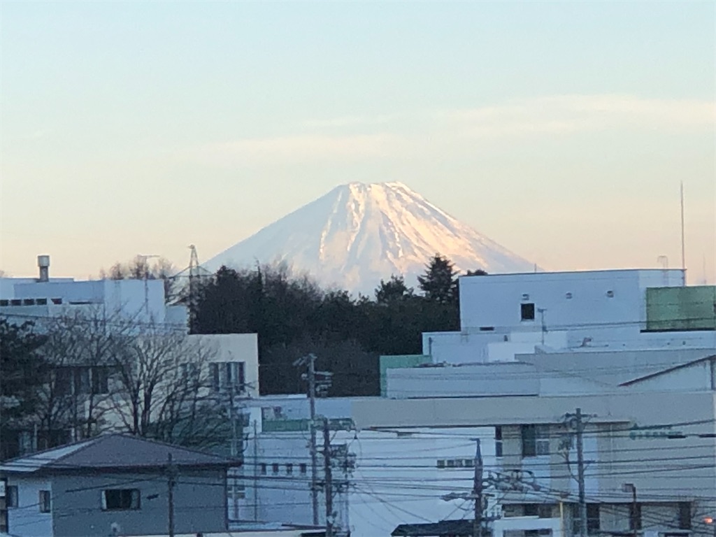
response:
[[[473,518],[480,438],[491,534],[575,535],[567,415],[579,408],[590,535],[712,531],[715,305],[716,288],[684,286],[681,270],[461,278],[460,332],[424,334],[424,357],[396,357],[384,397],[317,402],[332,445],[355,456],[337,526],[352,536],[463,534],[450,523]],[[253,406],[244,516],[310,523],[308,402]]]

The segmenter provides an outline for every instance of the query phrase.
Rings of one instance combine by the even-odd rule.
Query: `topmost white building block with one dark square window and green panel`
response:
[[[562,349],[716,347],[714,286],[682,269],[460,278],[460,332],[422,337],[434,363],[500,362]]]

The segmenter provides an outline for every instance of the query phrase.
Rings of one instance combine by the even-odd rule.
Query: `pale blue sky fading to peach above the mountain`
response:
[[[0,268],[209,258],[400,180],[547,269],[713,281],[716,3],[0,6]]]

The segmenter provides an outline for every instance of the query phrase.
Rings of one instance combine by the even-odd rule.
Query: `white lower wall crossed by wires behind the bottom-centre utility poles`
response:
[[[473,468],[437,468],[438,459],[473,460],[475,442],[482,440],[485,472],[495,470],[493,427],[400,430],[395,432],[340,431],[332,446],[345,444],[356,455],[350,492],[334,500],[339,520],[347,523],[354,537],[390,535],[401,523],[438,521],[455,515],[464,500],[445,501],[442,495],[466,493],[472,488]],[[269,475],[258,479],[258,518],[262,521],[311,523],[310,457],[305,433],[263,433],[258,439],[258,463],[266,463]],[[319,435],[320,440],[320,435]],[[249,449],[251,452],[251,448]],[[279,463],[272,475],[271,464]],[[286,475],[285,464],[294,465]],[[299,464],[307,465],[306,475]],[[322,458],[319,459],[322,479]],[[253,460],[246,467],[252,468]],[[334,479],[344,478],[334,470]],[[251,483],[251,480],[249,480]],[[325,520],[324,495],[319,494],[320,523]],[[347,512],[346,512],[347,511]],[[459,511],[459,510],[458,510]],[[251,501],[244,516],[253,516]],[[455,518],[459,518],[455,517]]]

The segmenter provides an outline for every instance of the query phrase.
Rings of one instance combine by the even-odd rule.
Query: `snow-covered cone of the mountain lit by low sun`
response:
[[[286,261],[324,286],[371,294],[381,279],[409,286],[435,253],[460,271],[526,272],[533,264],[480,235],[402,183],[334,188],[205,263],[241,267]]]

